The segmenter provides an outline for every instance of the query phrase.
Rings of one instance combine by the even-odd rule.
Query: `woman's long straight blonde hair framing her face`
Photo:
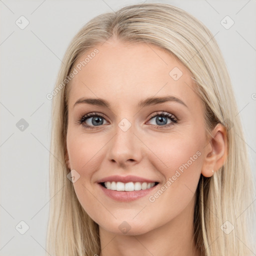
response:
[[[226,127],[228,155],[224,165],[212,177],[201,175],[198,182],[194,239],[202,255],[249,255],[247,247],[251,248],[252,241],[247,228],[252,217],[252,205],[249,205],[253,201],[254,186],[224,59],[212,33],[200,21],[164,3],[134,4],[115,13],[98,15],[78,31],[65,52],[52,102],[47,252],[58,256],[100,253],[98,224],[84,211],[67,178],[70,172],[65,161],[70,86],[67,80],[64,86],[63,81],[81,54],[110,37],[122,42],[152,43],[177,57],[197,85],[209,138],[216,123]],[[231,225],[234,229],[227,234],[223,229],[231,229]]]

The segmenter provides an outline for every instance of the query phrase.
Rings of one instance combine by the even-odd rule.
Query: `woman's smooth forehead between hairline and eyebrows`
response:
[[[98,52],[91,54],[94,49]],[[198,101],[188,69],[151,43],[106,41],[84,52],[75,68],[78,73],[70,83],[70,104],[82,96],[129,104],[153,95],[177,96],[187,105]]]

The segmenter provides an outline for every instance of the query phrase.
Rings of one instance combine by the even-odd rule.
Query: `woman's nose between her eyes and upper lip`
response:
[[[116,126],[116,134],[108,143],[107,159],[119,167],[134,165],[141,160],[141,141],[133,131],[133,125],[126,131]]]

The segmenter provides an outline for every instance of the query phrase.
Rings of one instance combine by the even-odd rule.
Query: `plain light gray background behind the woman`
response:
[[[67,44],[92,17],[142,2],[0,0],[0,255],[45,254],[51,107],[46,94]],[[146,2],[173,4],[200,19],[213,35],[218,32],[255,175],[256,1]],[[15,23],[21,15],[29,21],[24,29]],[[234,21],[229,29],[220,23],[226,15]],[[23,130],[16,126],[21,118],[28,124]],[[25,228],[21,220],[29,226],[24,234],[18,232]]]

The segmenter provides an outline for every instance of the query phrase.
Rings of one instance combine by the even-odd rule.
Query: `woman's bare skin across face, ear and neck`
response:
[[[99,225],[100,256],[200,255],[193,240],[194,193],[200,174],[210,177],[226,159],[224,127],[217,124],[212,139],[207,138],[203,105],[190,73],[163,49],[116,39],[96,48],[98,54],[70,84],[66,159],[68,167],[80,175],[73,183],[77,198]],[[169,75],[173,67],[182,71],[177,80]],[[166,95],[181,99],[187,107],[176,101],[137,106],[142,99]],[[81,97],[103,98],[109,107],[74,106]],[[156,122],[157,116],[153,116],[161,117],[161,111],[173,114],[177,123],[167,127],[172,122],[169,117],[163,124]],[[92,118],[86,120],[87,125],[95,126],[93,130],[78,124],[79,118],[90,112],[104,115],[99,126]],[[131,123],[127,131],[118,126],[123,118]],[[200,156],[154,202],[149,201],[149,195],[197,151]],[[106,196],[96,182],[113,174],[137,175],[160,184],[148,196],[118,202]],[[118,228],[123,221],[130,226],[127,233]]]

